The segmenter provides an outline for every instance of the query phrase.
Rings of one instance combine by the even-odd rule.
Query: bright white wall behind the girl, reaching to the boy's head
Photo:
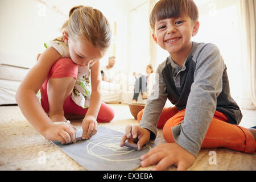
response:
[[[150,63],[147,0],[1,0],[0,63],[32,67],[38,53],[45,50],[43,44],[61,35],[60,28],[68,19],[69,10],[77,5],[102,11],[112,30],[117,22],[117,35],[101,65],[108,64],[116,44],[116,67],[120,71],[145,71]]]

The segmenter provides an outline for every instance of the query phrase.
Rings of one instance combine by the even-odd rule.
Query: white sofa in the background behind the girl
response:
[[[29,68],[15,65],[0,64],[0,105],[16,104],[15,94]],[[135,77],[133,75],[119,73],[117,82],[102,81],[102,95],[106,103],[129,104],[133,100]],[[138,103],[146,104],[141,94]]]

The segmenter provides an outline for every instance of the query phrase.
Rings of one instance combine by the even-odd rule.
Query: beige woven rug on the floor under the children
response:
[[[121,131],[126,125],[136,125],[128,105],[111,104],[115,118],[105,127]],[[81,121],[72,121],[81,129]],[[164,143],[162,130],[156,144]],[[216,152],[216,164],[209,163]],[[151,167],[137,170],[150,170]],[[170,167],[175,170],[176,167]],[[0,170],[86,170],[54,144],[44,139],[23,117],[18,106],[0,106]],[[201,150],[196,162],[188,170],[256,170],[256,154],[244,154],[225,148]]]

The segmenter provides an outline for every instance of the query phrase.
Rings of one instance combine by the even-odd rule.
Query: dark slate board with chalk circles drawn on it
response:
[[[133,147],[120,147],[124,133],[99,126],[98,131],[88,140],[80,140],[72,144],[54,142],[73,160],[87,170],[133,170],[141,166],[140,157],[156,146],[148,142],[140,151]],[[76,137],[81,137],[82,131],[77,131]]]

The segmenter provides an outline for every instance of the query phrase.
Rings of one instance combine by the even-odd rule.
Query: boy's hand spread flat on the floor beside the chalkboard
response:
[[[174,165],[181,171],[192,166],[196,157],[176,143],[164,143],[142,155],[141,160],[142,167],[158,163],[153,170],[164,170]]]

